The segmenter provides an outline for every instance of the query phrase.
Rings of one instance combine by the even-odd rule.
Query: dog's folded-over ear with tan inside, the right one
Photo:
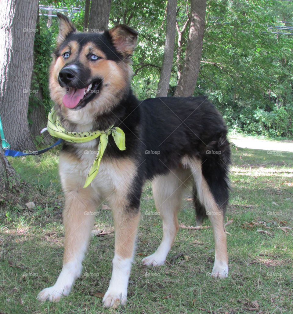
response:
[[[130,57],[136,47],[138,33],[127,25],[116,25],[109,30],[112,42],[123,57]]]

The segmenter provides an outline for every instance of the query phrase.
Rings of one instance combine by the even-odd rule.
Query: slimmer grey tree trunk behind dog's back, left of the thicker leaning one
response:
[[[158,83],[157,97],[165,97],[168,95],[175,46],[176,9],[177,0],[168,0],[165,51]]]

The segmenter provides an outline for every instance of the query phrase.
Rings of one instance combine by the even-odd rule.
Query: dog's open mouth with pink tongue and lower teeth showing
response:
[[[102,88],[102,80],[93,81],[85,88],[67,87],[66,94],[63,96],[63,104],[69,109],[81,109],[94,97],[99,95]]]

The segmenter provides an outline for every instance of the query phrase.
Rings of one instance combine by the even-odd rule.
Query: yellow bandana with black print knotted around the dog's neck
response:
[[[48,132],[57,138],[71,143],[85,143],[92,141],[95,138],[100,137],[98,154],[91,166],[85,181],[84,187],[87,187],[97,175],[101,159],[108,144],[108,136],[112,134],[115,144],[120,150],[125,150],[125,134],[120,127],[109,127],[106,131],[94,131],[94,132],[69,132],[62,127],[59,118],[56,115],[54,108],[51,109],[48,115]]]

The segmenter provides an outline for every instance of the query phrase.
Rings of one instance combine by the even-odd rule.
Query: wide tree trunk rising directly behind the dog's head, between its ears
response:
[[[111,0],[92,0],[89,14],[89,31],[98,32],[108,29]]]

